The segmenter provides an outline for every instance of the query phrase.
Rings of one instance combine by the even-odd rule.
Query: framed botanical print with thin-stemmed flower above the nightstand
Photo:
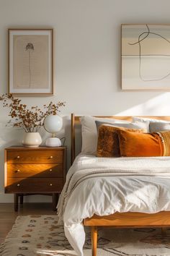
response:
[[[9,29],[9,93],[53,94],[53,29]]]

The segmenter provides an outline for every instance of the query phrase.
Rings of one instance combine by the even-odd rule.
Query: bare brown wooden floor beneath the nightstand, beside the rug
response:
[[[17,216],[24,216],[30,214],[56,214],[52,210],[51,203],[24,203],[19,206],[18,212],[14,212],[14,205],[12,203],[0,204],[0,244],[4,241],[6,234],[12,229]]]

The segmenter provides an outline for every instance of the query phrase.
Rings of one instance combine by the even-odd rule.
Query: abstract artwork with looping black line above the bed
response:
[[[122,90],[170,90],[170,25],[122,25]]]

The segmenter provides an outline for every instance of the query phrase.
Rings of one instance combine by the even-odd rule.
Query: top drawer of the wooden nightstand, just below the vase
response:
[[[63,163],[63,150],[9,150],[7,163]]]

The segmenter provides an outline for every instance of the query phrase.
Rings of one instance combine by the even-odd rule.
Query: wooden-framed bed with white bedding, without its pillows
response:
[[[132,119],[131,116],[100,117],[128,121]],[[170,121],[169,116],[151,116],[151,118]],[[68,171],[65,191],[63,189],[63,195],[61,195],[58,202],[58,216],[60,218],[63,216],[65,234],[77,254],[83,255],[84,226],[91,226],[93,256],[97,255],[97,226],[113,226],[116,228],[169,227],[170,157],[123,158],[123,163],[119,158],[104,159],[96,158],[94,155],[83,154],[76,157],[75,127],[77,124],[79,124],[79,116],[71,114],[72,166]],[[135,166],[137,167],[135,168]],[[153,166],[156,167],[153,168]],[[112,176],[110,172],[112,172]],[[86,179],[86,177],[88,178]],[[113,180],[114,182],[110,182]],[[130,184],[130,188],[133,187],[133,193],[128,189],[123,191],[121,186],[125,183],[127,183],[126,188],[128,184]],[[108,187],[110,189],[109,192],[107,191]],[[103,199],[104,207],[103,205],[99,207],[97,197],[101,201],[103,191],[105,193]],[[126,193],[126,196],[123,193],[121,195],[120,191]],[[132,197],[134,191],[135,206],[133,205],[133,208],[131,208],[131,202],[134,202],[134,197]],[[148,196],[151,191],[153,198]],[[118,206],[114,210],[110,206],[110,195],[117,200],[115,205]],[[143,195],[146,195],[146,197],[143,197]],[[159,200],[159,197],[161,197],[161,200]],[[126,198],[126,202],[122,203],[124,198]],[[139,198],[139,201],[136,198]],[[65,207],[63,207],[64,201]],[[148,210],[147,205],[152,205],[152,207]]]

